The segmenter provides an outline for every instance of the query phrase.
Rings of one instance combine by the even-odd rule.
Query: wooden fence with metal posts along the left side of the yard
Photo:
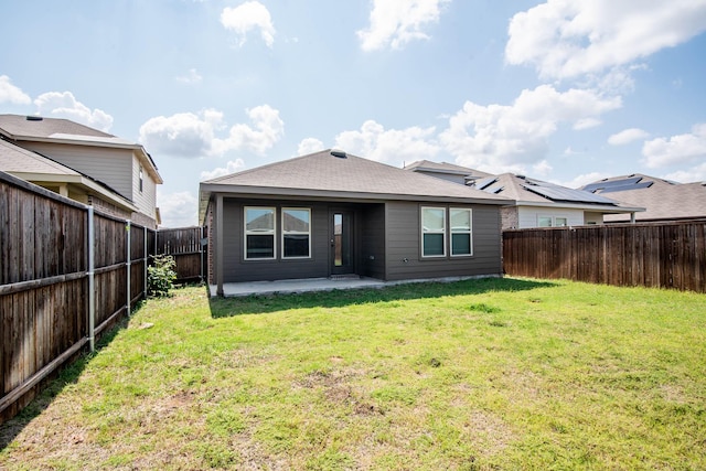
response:
[[[175,250],[179,269],[200,229],[162,235],[0,172],[0,422],[146,298],[151,254]],[[182,265],[181,279],[200,277]]]

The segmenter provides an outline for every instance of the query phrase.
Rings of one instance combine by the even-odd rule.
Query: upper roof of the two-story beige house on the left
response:
[[[162,183],[157,164],[145,148],[136,142],[118,138],[98,129],[79,125],[69,119],[41,116],[0,115],[0,135],[12,141],[66,142],[83,146],[117,147],[137,150],[148,163],[152,178]]]

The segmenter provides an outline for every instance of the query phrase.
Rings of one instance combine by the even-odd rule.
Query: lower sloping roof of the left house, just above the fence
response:
[[[32,183],[78,185],[89,194],[101,195],[120,207],[137,211],[132,202],[105,183],[3,139],[0,139],[0,171]]]

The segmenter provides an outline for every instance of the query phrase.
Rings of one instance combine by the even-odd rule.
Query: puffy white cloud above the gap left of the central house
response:
[[[250,150],[263,154],[285,133],[279,111],[269,105],[246,110],[253,126],[237,124],[224,139],[216,132],[225,129],[223,114],[207,109],[200,114],[180,113],[158,116],[140,127],[140,142],[148,151],[173,157],[220,157],[232,150]]]

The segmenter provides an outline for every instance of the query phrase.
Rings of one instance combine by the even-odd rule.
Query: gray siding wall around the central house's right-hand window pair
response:
[[[414,202],[386,205],[387,280],[501,275],[500,208],[484,205],[424,204],[473,210],[473,255],[470,257],[421,257],[420,207]],[[447,247],[449,234],[447,232]]]

